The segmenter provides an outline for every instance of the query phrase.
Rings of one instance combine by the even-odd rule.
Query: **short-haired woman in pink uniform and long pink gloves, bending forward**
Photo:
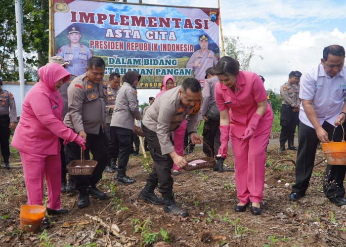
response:
[[[237,60],[222,57],[213,73],[219,80],[215,86],[221,132],[217,162],[222,164],[227,157],[229,135],[239,199],[234,209],[245,211],[251,203],[251,212],[257,215],[263,198],[265,147],[273,114],[262,80],[253,72],[239,71]]]

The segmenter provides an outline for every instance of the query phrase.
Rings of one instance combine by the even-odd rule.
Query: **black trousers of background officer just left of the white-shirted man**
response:
[[[280,142],[289,143],[294,142],[294,134],[296,132],[296,125],[299,123],[299,112],[293,112],[292,107],[289,105],[281,105],[280,110]]]

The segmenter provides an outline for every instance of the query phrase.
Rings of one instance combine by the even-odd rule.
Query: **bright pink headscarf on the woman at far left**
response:
[[[40,77],[40,83],[46,84],[46,86],[52,90],[54,89],[55,82],[64,78],[64,82],[70,78],[70,73],[68,73],[60,64],[57,63],[48,63],[41,67],[37,72]]]

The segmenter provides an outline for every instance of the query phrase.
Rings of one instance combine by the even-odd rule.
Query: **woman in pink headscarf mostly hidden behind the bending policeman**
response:
[[[165,76],[162,82],[164,89],[158,94],[156,94],[156,98],[159,97],[165,91],[172,89],[174,87],[174,83],[175,82],[174,82],[173,76],[170,76],[170,75]],[[174,130],[174,137],[173,137],[174,151],[180,156],[184,155],[185,130],[186,130],[186,119],[180,124],[180,126],[176,130]],[[174,176],[179,175],[179,170],[181,170],[181,168],[173,164]]]

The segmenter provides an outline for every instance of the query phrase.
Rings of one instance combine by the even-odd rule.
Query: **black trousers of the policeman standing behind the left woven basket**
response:
[[[96,183],[102,178],[102,172],[107,165],[108,159],[107,147],[107,137],[102,126],[100,126],[97,135],[87,133],[87,149],[84,151],[84,156],[86,160],[89,160],[89,152],[91,152],[92,160],[97,161],[97,165],[91,175],[72,175],[76,190],[85,190],[88,186],[95,187]],[[64,152],[67,164],[70,164],[73,160],[81,159],[81,147],[75,142],[68,142]]]

